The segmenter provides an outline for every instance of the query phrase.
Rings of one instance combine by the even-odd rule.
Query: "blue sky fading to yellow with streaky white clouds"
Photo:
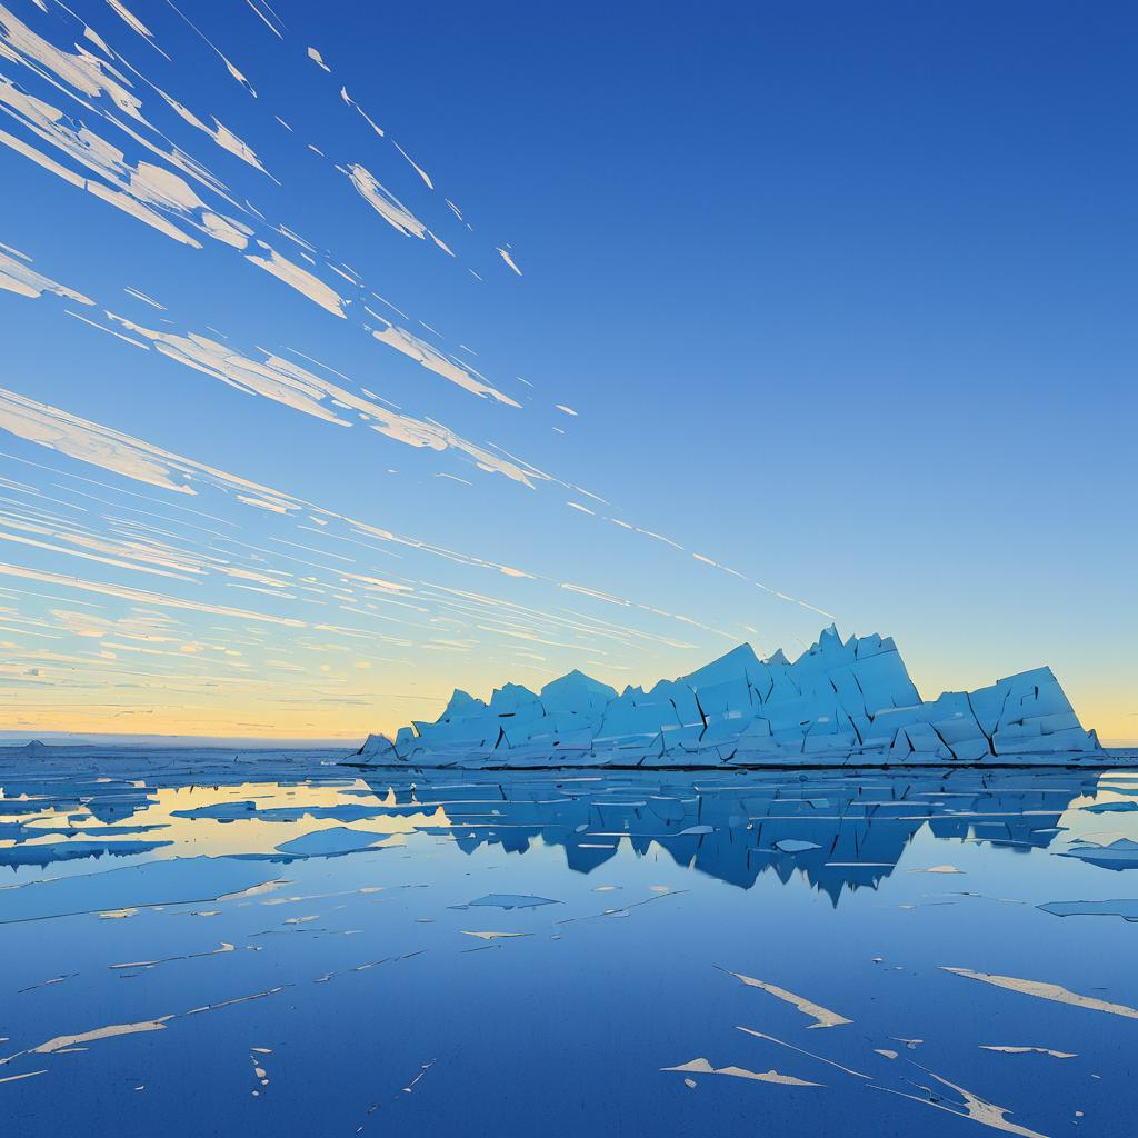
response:
[[[1138,13],[0,0],[0,731],[833,620],[1138,740]]]

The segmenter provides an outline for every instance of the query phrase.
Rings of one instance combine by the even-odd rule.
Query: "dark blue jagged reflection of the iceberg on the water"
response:
[[[463,782],[391,787],[399,809],[445,809],[459,848],[523,853],[541,840],[591,873],[621,843],[655,846],[679,865],[750,889],[764,873],[802,875],[836,905],[842,891],[876,887],[922,826],[937,838],[1046,849],[1069,806],[1095,790],[1086,774],[954,773],[912,780],[744,777]]]

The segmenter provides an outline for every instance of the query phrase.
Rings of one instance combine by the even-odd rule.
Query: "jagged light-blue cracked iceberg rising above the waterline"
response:
[[[761,767],[1087,761],[1050,668],[922,701],[891,637],[832,625],[791,662],[750,644],[650,691],[570,671],[488,703],[455,691],[435,723],[371,735],[357,761],[422,767]]]

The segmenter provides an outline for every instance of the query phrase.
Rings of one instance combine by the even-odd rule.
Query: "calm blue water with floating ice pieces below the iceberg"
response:
[[[1138,1133],[1138,774],[121,767],[0,772],[6,1135]]]

